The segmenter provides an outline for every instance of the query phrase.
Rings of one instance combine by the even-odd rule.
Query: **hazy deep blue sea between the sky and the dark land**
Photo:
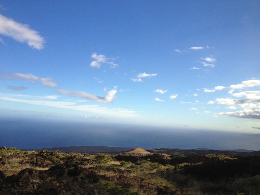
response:
[[[260,150],[259,136],[238,132],[28,118],[0,118],[0,147],[110,146]]]

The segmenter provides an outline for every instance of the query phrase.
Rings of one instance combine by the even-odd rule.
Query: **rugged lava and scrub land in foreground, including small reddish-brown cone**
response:
[[[0,194],[260,194],[260,157],[0,148]]]

